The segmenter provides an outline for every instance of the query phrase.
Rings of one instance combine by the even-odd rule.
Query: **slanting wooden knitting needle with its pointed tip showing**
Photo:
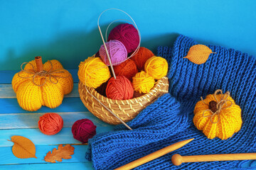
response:
[[[168,154],[169,152],[172,152],[180,147],[183,147],[184,145],[186,145],[187,143],[191,142],[194,138],[189,139],[189,140],[183,140],[181,142],[176,142],[173,145],[170,145],[168,147],[164,147],[163,149],[160,149],[156,152],[153,152],[151,154],[146,155],[145,157],[139,158],[137,160],[135,160],[134,162],[130,162],[129,164],[126,164],[124,166],[121,166],[117,169],[114,170],[128,170],[128,169],[134,169],[135,167],[145,164],[146,162],[150,162],[153,159],[156,159],[158,157],[163,156],[164,154]]]

